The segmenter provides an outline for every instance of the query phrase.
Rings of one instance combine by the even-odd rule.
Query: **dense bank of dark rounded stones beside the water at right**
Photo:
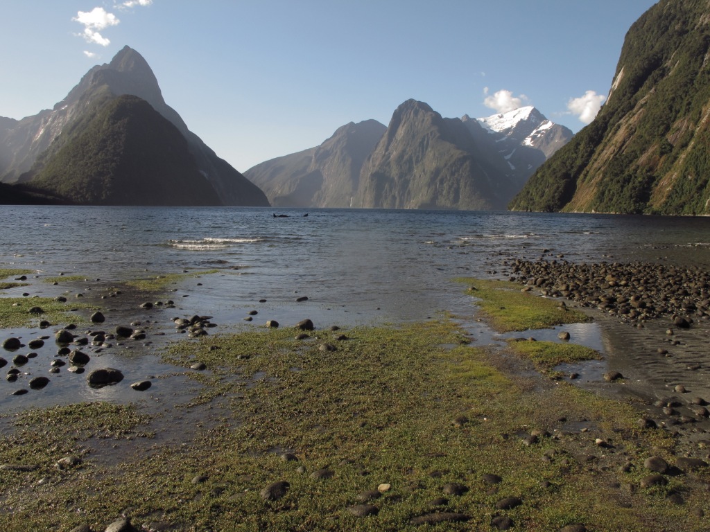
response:
[[[669,316],[675,326],[688,328],[694,319],[710,317],[710,274],[697,267],[566,260],[504,264],[512,269],[510,280],[525,284],[525,289],[596,307],[625,321]]]

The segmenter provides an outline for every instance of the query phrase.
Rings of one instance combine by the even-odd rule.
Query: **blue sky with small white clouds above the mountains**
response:
[[[129,45],[190,130],[242,172],[350,121],[387,124],[410,98],[446,117],[534,105],[577,132],[655,3],[1,0],[0,116],[50,109]]]

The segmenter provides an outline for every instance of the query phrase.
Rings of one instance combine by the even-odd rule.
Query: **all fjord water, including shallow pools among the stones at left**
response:
[[[709,218],[63,206],[0,206],[0,214],[0,268],[36,272],[28,276],[29,286],[7,289],[4,296],[64,294],[70,308],[82,293],[82,301],[100,306],[107,315],[107,331],[140,321],[148,333],[145,343],[130,340],[84,350],[96,358],[92,367],[118,367],[128,384],[151,375],[165,377],[152,379],[151,392],[138,396],[127,384],[93,389],[84,377],[62,371],[41,392],[13,396],[32,375],[46,375],[57,353],[49,341],[23,367],[25,378],[0,387],[4,410],[77,400],[143,400],[159,407],[168,397],[178,401],[176,390],[188,397],[189,382],[156,356],[160,345],[185,339],[175,331],[175,317],[213,316],[218,325],[210,329],[214,334],[264,326],[267,320],[293,326],[310,318],[324,329],[419,321],[448,312],[468,328],[476,345],[488,345],[501,340],[472,319],[473,300],[457,277],[506,278],[503,262],[516,257],[710,265]],[[206,270],[217,273],[185,277],[165,294],[99,298],[107,288],[130,279]],[[60,274],[87,281],[75,278],[54,285],[43,280]],[[296,301],[301,297],[307,301]],[[175,301],[174,308],[139,308],[142,301],[168,299]],[[250,311],[258,314],[247,322]],[[64,325],[45,331],[13,328],[2,331],[2,338],[28,341]],[[87,326],[81,327],[83,334]],[[598,324],[567,330],[576,343],[603,350]],[[538,339],[555,340],[556,334],[535,332]]]

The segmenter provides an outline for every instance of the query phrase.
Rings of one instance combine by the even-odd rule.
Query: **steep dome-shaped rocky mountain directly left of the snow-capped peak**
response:
[[[459,118],[401,104],[361,172],[354,205],[376,209],[500,209],[510,182]]]

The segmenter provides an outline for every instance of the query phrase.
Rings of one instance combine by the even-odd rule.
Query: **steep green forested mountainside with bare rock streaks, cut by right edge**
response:
[[[606,104],[510,209],[710,214],[710,1],[660,0],[629,29]]]

